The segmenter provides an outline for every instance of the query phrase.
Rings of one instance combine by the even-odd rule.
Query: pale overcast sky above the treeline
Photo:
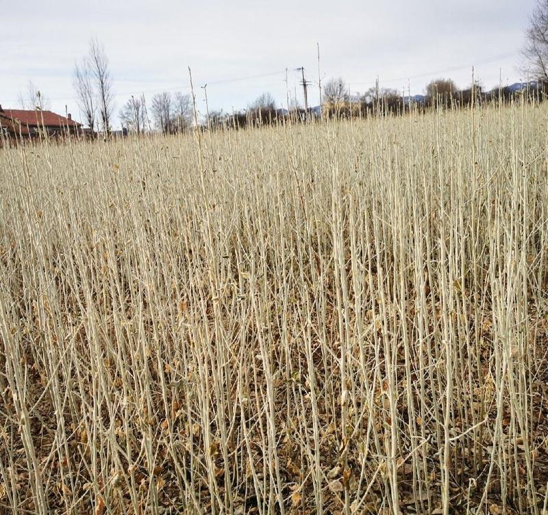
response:
[[[0,0],[0,104],[20,107],[32,80],[51,100],[79,115],[72,88],[75,60],[90,38],[104,45],[116,94],[115,112],[129,96],[187,91],[188,66],[205,111],[242,109],[262,92],[286,105],[302,103],[300,72],[318,103],[321,76],[343,77],[364,92],[381,86],[412,94],[430,79],[471,83],[471,67],[486,88],[522,77],[517,69],[527,16],[535,0]]]

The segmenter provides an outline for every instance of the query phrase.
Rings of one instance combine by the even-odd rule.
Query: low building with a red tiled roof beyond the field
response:
[[[2,109],[0,105],[0,131],[4,137],[17,139],[40,135],[58,136],[79,133],[81,123],[71,115],[61,116],[41,109]]]

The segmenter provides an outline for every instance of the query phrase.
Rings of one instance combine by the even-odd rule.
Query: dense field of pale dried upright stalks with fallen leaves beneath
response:
[[[547,115],[0,150],[0,513],[545,514]]]

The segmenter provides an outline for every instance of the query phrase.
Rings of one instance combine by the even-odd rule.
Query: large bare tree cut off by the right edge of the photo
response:
[[[537,0],[525,33],[527,42],[521,51],[523,72],[538,81],[548,81],[548,0]]]

